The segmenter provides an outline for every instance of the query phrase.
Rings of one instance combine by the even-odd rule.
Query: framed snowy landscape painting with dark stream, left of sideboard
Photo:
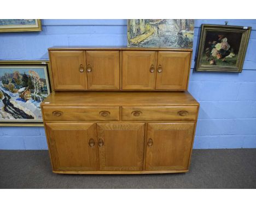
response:
[[[0,62],[0,126],[43,126],[49,70],[48,61]]]

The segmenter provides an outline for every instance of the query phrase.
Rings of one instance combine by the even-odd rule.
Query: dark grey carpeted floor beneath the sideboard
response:
[[[0,150],[0,188],[256,188],[256,149],[194,150],[190,171],[60,175],[48,151]]]

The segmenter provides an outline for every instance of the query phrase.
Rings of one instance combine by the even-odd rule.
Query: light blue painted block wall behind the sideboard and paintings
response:
[[[196,20],[194,51],[202,23],[251,26],[241,74],[195,72],[189,92],[200,102],[195,149],[256,148],[256,20]],[[126,20],[42,20],[42,32],[0,34],[1,60],[48,59],[56,45],[126,45]],[[0,149],[47,149],[43,127],[0,127]]]

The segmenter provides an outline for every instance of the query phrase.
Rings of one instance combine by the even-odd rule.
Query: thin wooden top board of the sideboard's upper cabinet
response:
[[[121,50],[121,51],[193,51],[190,48],[158,48],[158,47],[127,47],[127,46],[53,46],[49,51],[61,50]]]

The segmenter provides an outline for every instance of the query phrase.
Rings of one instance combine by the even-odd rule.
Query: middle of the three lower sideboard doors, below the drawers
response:
[[[100,170],[142,170],[144,124],[97,124]]]

